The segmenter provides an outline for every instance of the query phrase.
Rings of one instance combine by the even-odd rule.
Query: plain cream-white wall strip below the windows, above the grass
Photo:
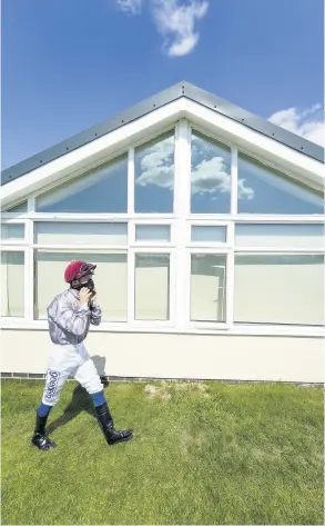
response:
[[[109,376],[324,381],[324,340],[304,337],[90,333]],[[1,371],[45,373],[45,330],[1,331]]]

